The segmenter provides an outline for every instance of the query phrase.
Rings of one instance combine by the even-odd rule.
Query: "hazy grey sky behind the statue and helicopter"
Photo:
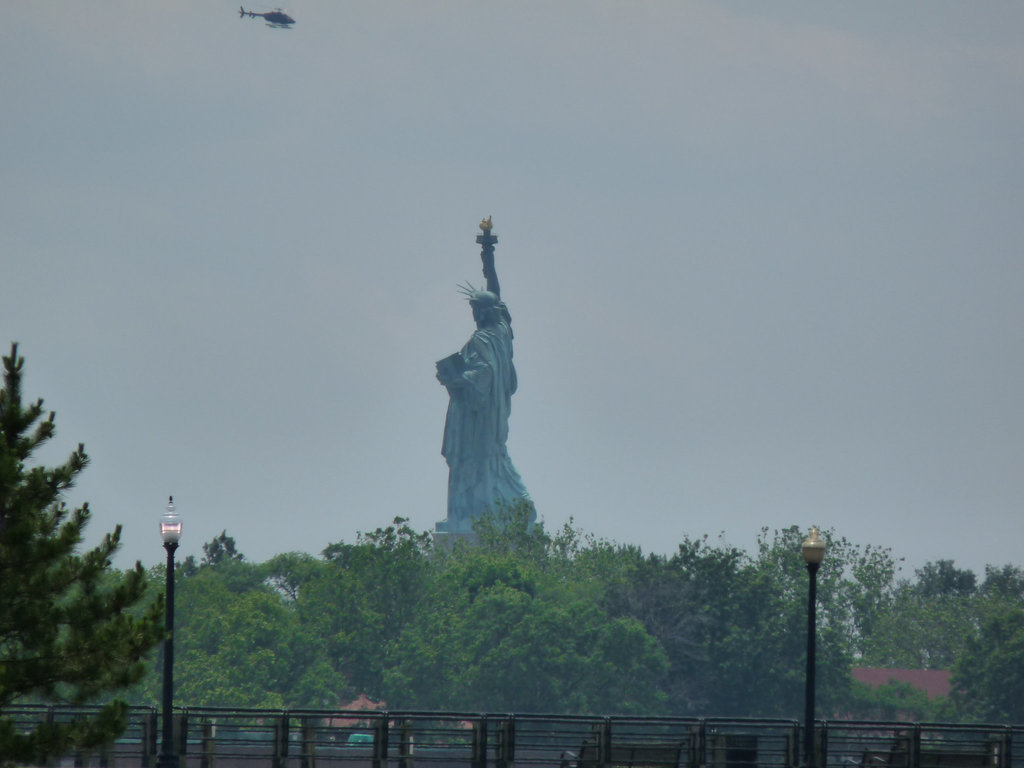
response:
[[[267,9],[270,6],[258,6]],[[8,3],[0,341],[119,564],[442,519],[493,215],[549,527],[1024,564],[1024,5]]]

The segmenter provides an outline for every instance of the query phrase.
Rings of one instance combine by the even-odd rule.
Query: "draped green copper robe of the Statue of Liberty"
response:
[[[450,388],[441,454],[449,465],[446,527],[468,531],[496,503],[511,507],[529,494],[505,444],[517,385],[512,329],[505,321],[478,328],[459,355],[464,383]]]

